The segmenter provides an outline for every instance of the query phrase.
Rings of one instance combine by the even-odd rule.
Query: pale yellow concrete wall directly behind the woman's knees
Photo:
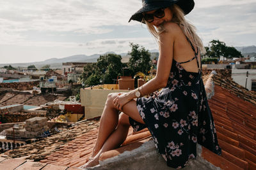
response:
[[[81,106],[86,119],[100,117],[109,93],[129,92],[129,90],[80,89]]]

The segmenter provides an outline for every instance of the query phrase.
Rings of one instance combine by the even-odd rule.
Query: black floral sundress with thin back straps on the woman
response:
[[[152,97],[137,99],[145,125],[129,118],[134,132],[148,127],[167,166],[174,168],[182,168],[196,157],[196,143],[221,154],[197,55],[195,52],[191,60],[196,59],[198,73],[186,71],[180,65],[184,62],[173,60],[168,85]]]

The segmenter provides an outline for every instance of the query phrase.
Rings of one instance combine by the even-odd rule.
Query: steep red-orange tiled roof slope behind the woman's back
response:
[[[231,94],[227,89],[216,85],[215,95],[209,100],[209,106],[214,117],[219,144],[223,150],[221,156],[209,151],[204,155],[205,159],[220,166],[221,169],[243,169],[255,168],[255,110],[256,106],[248,101]],[[206,150],[206,149],[205,149]],[[203,150],[203,154],[205,152]],[[230,162],[230,166],[225,167],[220,161]]]

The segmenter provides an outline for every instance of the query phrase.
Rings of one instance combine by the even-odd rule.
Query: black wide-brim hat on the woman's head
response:
[[[142,0],[142,8],[132,15],[129,22],[131,20],[142,22],[143,12],[166,8],[172,6],[172,4],[177,4],[184,11],[184,15],[192,11],[195,6],[193,0]]]

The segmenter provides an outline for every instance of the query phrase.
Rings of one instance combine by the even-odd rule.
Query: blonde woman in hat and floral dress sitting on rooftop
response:
[[[148,127],[170,167],[184,167],[195,158],[196,143],[221,153],[199,64],[204,46],[184,18],[193,7],[193,0],[143,0],[132,15],[130,20],[147,24],[159,42],[156,77],[136,90],[109,94],[97,143],[84,167],[99,164],[100,153],[120,146],[130,125],[134,131]],[[153,97],[142,97],[159,89]]]

